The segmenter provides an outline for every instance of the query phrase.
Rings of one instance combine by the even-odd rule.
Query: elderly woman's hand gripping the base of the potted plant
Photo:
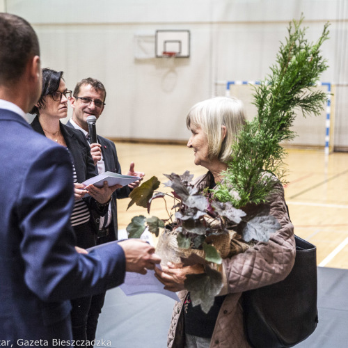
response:
[[[182,267],[182,264],[168,262],[168,267],[155,268],[155,277],[164,285],[165,290],[177,292],[184,290],[184,281],[187,274],[204,273],[203,264],[193,264]]]

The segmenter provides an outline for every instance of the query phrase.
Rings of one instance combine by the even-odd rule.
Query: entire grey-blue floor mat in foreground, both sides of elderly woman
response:
[[[106,294],[97,339],[113,348],[165,348],[174,300],[161,294]],[[319,324],[296,347],[348,347],[348,270],[318,267]]]

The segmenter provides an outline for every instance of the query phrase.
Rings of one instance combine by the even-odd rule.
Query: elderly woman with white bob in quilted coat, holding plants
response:
[[[208,169],[196,181],[199,190],[213,189],[221,181],[221,173],[233,156],[231,145],[244,122],[242,102],[235,98],[215,97],[199,102],[189,111],[187,127],[191,137],[187,146],[193,149],[194,163]],[[168,347],[250,347],[244,333],[242,293],[283,280],[290,273],[295,257],[293,226],[280,184],[267,204],[280,229],[271,235],[269,242],[258,242],[244,253],[223,259],[224,287],[207,314],[200,306],[192,306],[190,294],[184,290],[186,275],[203,273],[202,265],[182,267],[168,262],[168,267],[156,269],[165,289],[180,291],[181,302],[175,303]]]

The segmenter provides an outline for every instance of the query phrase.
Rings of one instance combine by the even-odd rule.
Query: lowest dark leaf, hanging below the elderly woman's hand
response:
[[[215,296],[223,287],[222,276],[220,272],[206,266],[205,274],[188,274],[184,287],[190,292],[192,306],[200,304],[203,312],[208,313],[214,304]]]

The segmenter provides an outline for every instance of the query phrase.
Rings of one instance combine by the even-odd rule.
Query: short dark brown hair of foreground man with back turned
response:
[[[0,85],[18,81],[33,56],[40,56],[40,46],[31,25],[16,15],[0,13]]]

